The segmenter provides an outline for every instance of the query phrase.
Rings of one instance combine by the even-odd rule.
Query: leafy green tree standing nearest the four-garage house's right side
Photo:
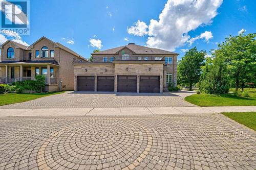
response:
[[[188,84],[189,90],[192,85],[199,81],[202,73],[201,66],[204,65],[205,51],[198,51],[197,47],[191,48],[178,63],[178,83]]]

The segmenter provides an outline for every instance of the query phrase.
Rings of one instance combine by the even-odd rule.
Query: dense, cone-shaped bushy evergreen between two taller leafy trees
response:
[[[224,59],[215,56],[210,64],[206,64],[203,74],[200,77],[201,92],[208,94],[223,94],[229,90],[229,78],[227,65]]]

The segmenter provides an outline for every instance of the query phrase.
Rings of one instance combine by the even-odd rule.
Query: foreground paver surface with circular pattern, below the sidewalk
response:
[[[255,169],[256,134],[220,114],[2,117],[0,169]]]

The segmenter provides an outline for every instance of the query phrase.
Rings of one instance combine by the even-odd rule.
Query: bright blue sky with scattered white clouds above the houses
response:
[[[135,43],[179,53],[180,60],[194,46],[210,55],[229,35],[255,33],[255,6],[255,0],[30,0],[30,35],[0,32],[0,43],[26,45],[45,36],[84,58]]]

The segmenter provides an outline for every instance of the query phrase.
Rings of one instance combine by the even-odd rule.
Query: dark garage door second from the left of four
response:
[[[97,91],[114,91],[115,78],[112,76],[97,77]]]

